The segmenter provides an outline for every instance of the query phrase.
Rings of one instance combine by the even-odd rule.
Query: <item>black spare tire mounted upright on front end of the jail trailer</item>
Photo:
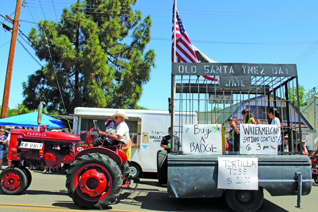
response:
[[[160,184],[167,184],[168,153],[164,149],[157,152],[157,176]]]

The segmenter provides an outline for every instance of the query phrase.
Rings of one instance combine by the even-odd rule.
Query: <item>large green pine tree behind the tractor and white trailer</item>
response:
[[[60,23],[41,20],[38,29],[32,28],[32,46],[46,65],[23,83],[23,103],[34,109],[45,101],[48,111],[61,112],[62,94],[68,113],[78,106],[138,108],[156,55],[145,51],[151,18],[133,11],[135,3],[74,3],[71,10],[63,10]]]

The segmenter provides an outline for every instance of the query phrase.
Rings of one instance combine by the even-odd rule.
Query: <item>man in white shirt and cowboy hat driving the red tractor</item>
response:
[[[102,137],[106,137],[113,140],[113,145],[123,144],[124,146],[122,150],[127,154],[128,161],[130,161],[131,140],[129,137],[129,128],[125,122],[125,119],[128,119],[128,117],[126,116],[125,111],[122,111],[122,110],[117,110],[116,113],[112,116],[115,116],[115,122],[117,124],[116,134],[111,135],[111,134],[104,133],[100,130],[99,130],[99,133]]]

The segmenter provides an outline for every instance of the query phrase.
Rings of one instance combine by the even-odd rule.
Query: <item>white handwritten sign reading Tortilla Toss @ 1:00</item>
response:
[[[258,158],[218,158],[218,188],[258,190]]]

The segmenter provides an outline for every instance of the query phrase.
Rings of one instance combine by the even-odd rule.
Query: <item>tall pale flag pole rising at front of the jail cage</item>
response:
[[[174,0],[174,13],[173,13],[173,62],[176,62],[176,18],[177,17],[177,0]],[[174,151],[174,125],[175,125],[175,99],[176,99],[176,75],[171,75],[171,146],[172,152]],[[177,149],[179,151],[179,149]]]

